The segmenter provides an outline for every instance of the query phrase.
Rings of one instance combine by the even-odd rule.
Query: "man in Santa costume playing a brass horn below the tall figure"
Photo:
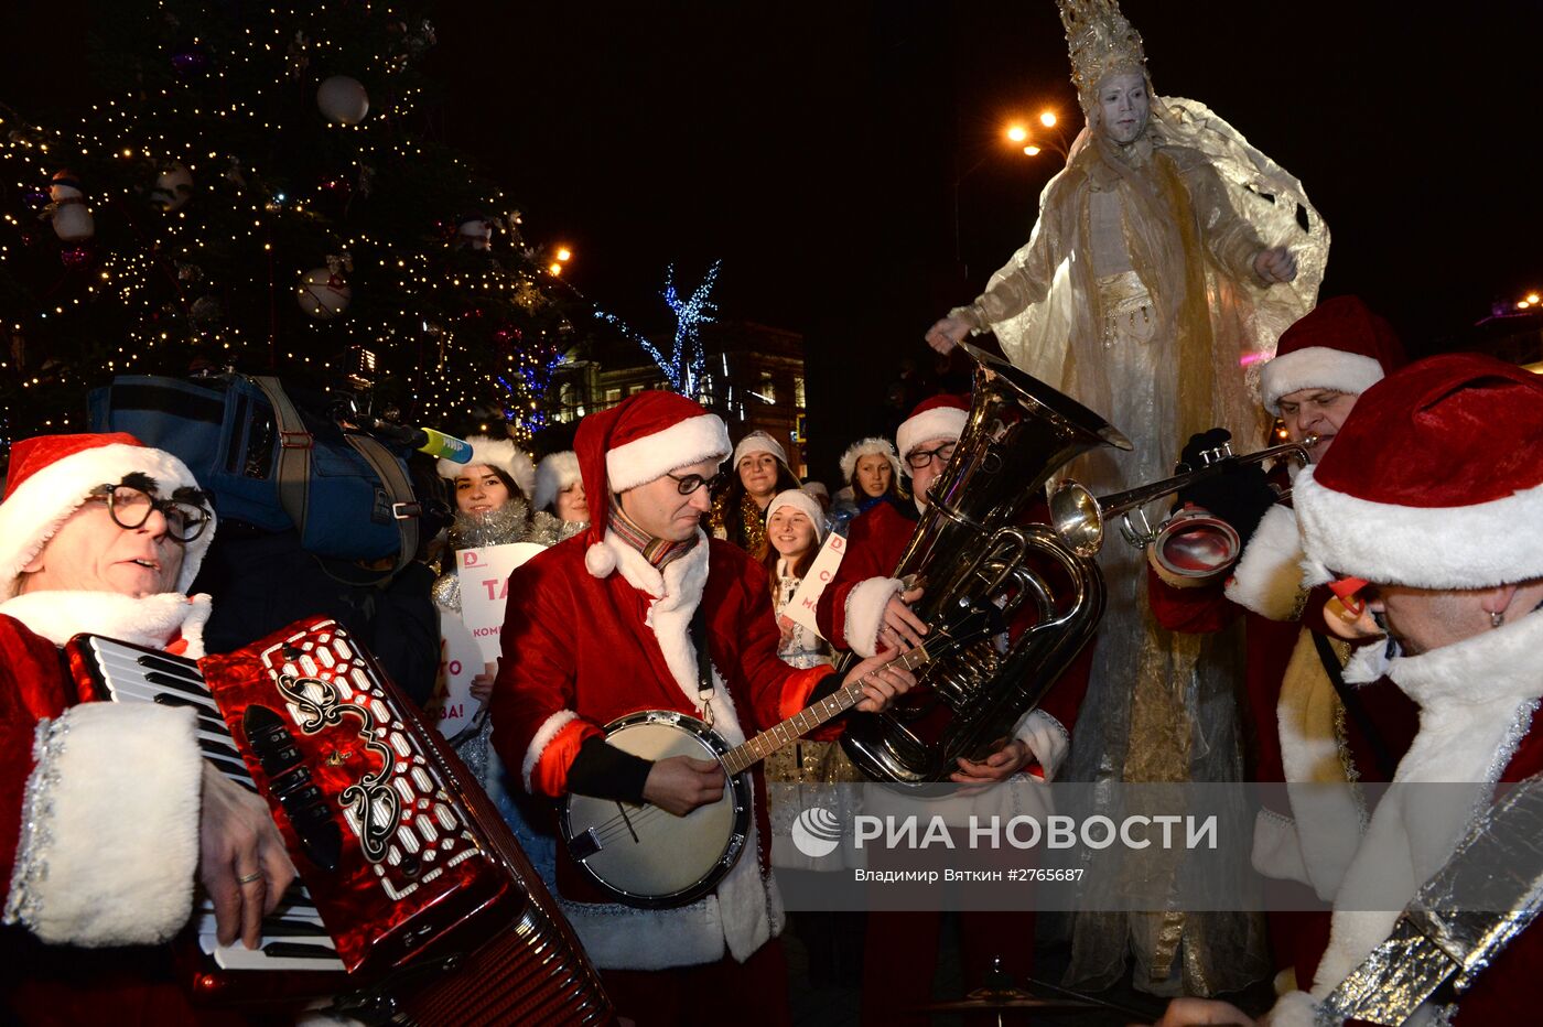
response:
[[[1261,375],[1264,406],[1281,418],[1290,441],[1316,435],[1310,455],[1319,461],[1359,395],[1403,362],[1393,327],[1361,299],[1325,299],[1281,336]],[[1225,433],[1219,439],[1213,435],[1199,447],[1227,439]],[[1296,472],[1295,461],[1278,461],[1270,484],[1290,489]],[[1344,685],[1341,668],[1350,646],[1324,623],[1332,594],[1305,583],[1296,515],[1288,500],[1275,501],[1270,484],[1251,466],[1180,492],[1182,503],[1239,532],[1242,558],[1231,578],[1221,572],[1185,580],[1167,574],[1150,551],[1146,595],[1157,623],[1170,631],[1213,632],[1244,617],[1254,722],[1248,776],[1299,785],[1295,803],[1285,802],[1285,790],[1262,794],[1253,851],[1259,873],[1312,890],[1271,893],[1276,908],[1288,910],[1268,916],[1275,965],[1282,970],[1282,990],[1288,990],[1295,981],[1313,979],[1313,961],[1327,941],[1327,916],[1296,910],[1310,905],[1313,894],[1330,899],[1339,887],[1361,834],[1356,782],[1387,782],[1416,725],[1413,703],[1392,682]]]

